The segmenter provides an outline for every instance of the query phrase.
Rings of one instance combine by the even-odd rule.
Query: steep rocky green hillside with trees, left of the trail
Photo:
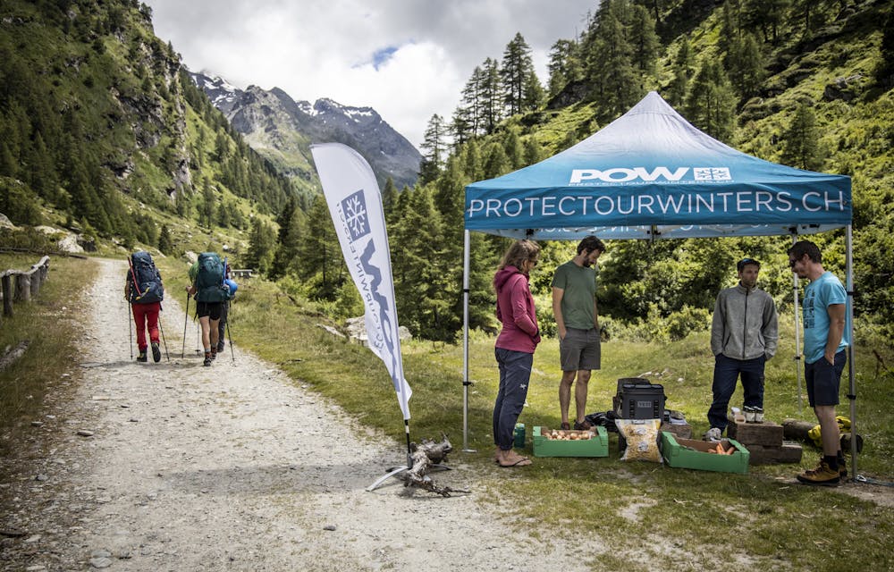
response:
[[[13,223],[174,253],[230,242],[295,195],[156,38],[145,4],[2,6],[0,212]]]

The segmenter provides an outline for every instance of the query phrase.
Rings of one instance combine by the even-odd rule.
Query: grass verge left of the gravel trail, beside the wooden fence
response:
[[[0,253],[0,272],[28,270],[40,258]],[[80,377],[72,362],[82,332],[77,308],[96,272],[89,260],[50,257],[49,275],[38,296],[14,304],[13,317],[0,318],[0,350],[30,341],[24,355],[0,372],[0,426],[10,437],[0,442],[0,452],[15,446],[19,428],[38,416],[48,395],[59,399]],[[72,284],[83,288],[72,290]]]

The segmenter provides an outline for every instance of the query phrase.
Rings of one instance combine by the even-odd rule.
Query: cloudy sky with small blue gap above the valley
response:
[[[156,36],[192,71],[295,100],[371,106],[417,147],[450,120],[475,66],[516,32],[546,82],[552,44],[574,38],[598,0],[144,0]]]

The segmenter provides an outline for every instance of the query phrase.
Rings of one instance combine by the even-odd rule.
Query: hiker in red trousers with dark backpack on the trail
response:
[[[127,279],[124,281],[124,299],[131,304],[133,322],[137,325],[138,362],[147,362],[148,344],[146,330],[149,331],[149,342],[152,344],[152,360],[158,362],[162,358],[158,347],[158,313],[162,309],[164,284],[152,256],[145,250],[139,250],[128,257]],[[131,354],[133,357],[133,354]]]

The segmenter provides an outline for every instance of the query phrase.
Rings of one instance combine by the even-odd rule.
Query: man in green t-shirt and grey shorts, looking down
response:
[[[556,268],[552,277],[552,314],[559,330],[561,428],[570,429],[568,409],[575,378],[575,429],[589,429],[586,384],[590,372],[601,366],[599,311],[596,307],[596,271],[593,266],[605,252],[602,240],[588,236],[578,244],[578,256]]]

